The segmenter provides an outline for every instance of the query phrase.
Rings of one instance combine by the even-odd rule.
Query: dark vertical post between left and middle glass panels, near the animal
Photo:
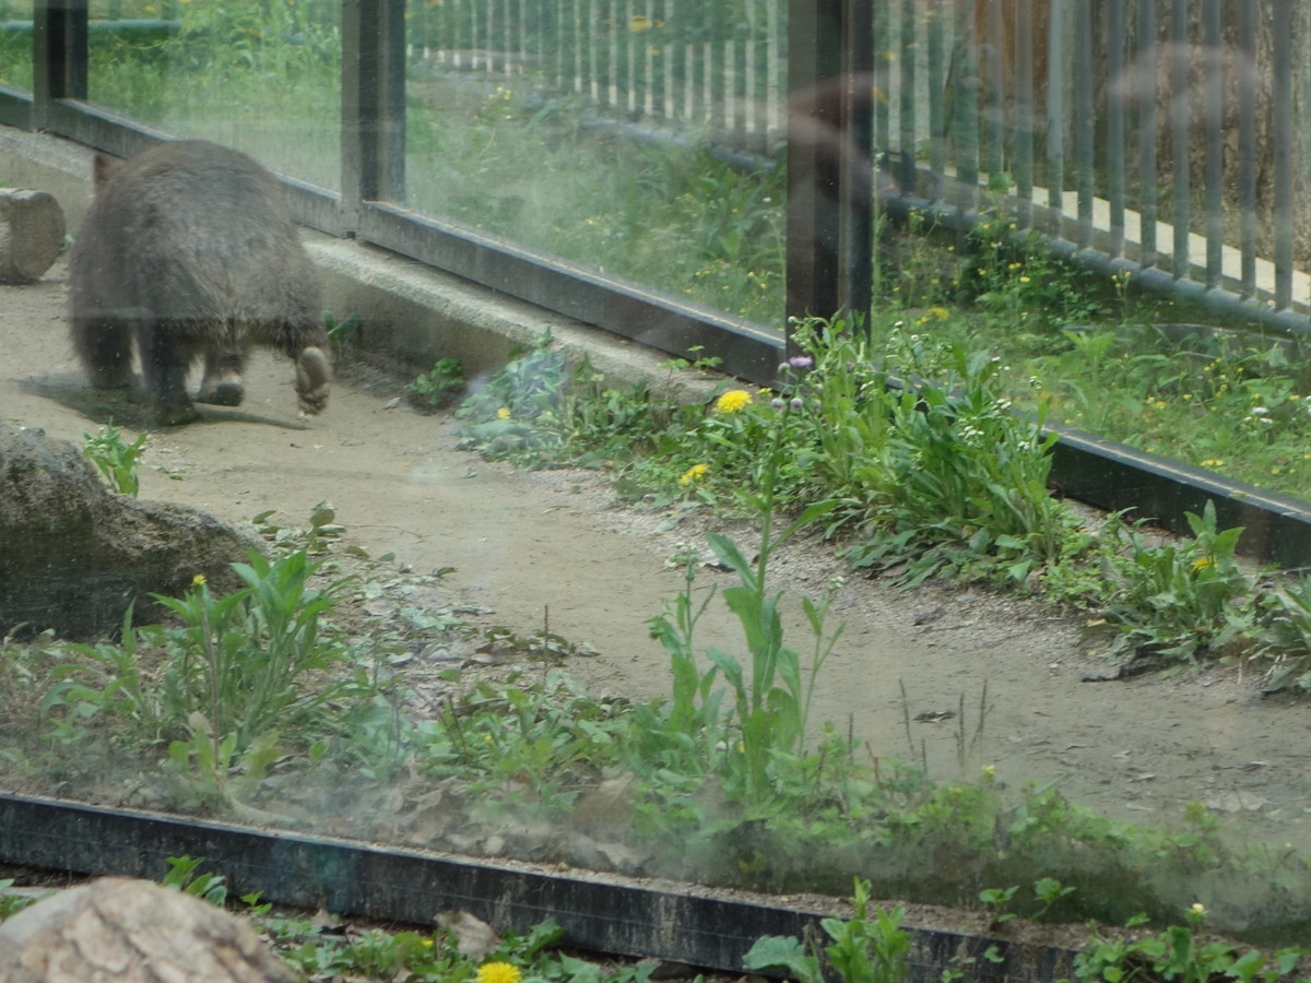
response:
[[[341,194],[347,227],[364,202],[405,199],[405,1],[342,4]]]

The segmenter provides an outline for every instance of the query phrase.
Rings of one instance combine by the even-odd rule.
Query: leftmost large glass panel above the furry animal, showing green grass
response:
[[[90,16],[92,101],[340,186],[340,4],[96,0]]]

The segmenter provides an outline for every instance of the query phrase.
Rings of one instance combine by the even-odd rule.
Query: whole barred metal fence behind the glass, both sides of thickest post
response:
[[[780,153],[785,8],[412,3],[410,58],[531,75],[602,114]],[[902,195],[1006,202],[1019,228],[1148,282],[1304,311],[1311,216],[1295,190],[1311,153],[1293,117],[1308,28],[1291,0],[885,0],[869,151],[893,161]]]

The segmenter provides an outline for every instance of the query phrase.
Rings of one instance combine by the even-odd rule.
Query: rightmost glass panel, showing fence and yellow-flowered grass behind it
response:
[[[1139,288],[1186,278],[1276,299],[1281,140],[1306,168],[1306,142],[1277,132],[1278,59],[1257,8],[1184,7],[1180,25],[1165,3],[1032,4],[1028,20],[1009,3],[881,5],[889,177],[979,219],[958,258],[926,248],[932,219],[885,237],[882,307],[1000,355],[1011,396],[1046,400],[1054,423],[1306,497],[1304,336],[1253,330],[1251,311],[1200,291]],[[1093,262],[1057,260],[1050,235]],[[1301,303],[1311,233],[1290,223],[1286,236]]]

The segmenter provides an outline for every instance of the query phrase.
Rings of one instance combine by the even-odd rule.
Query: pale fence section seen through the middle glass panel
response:
[[[534,73],[599,110],[763,152],[787,123],[787,0],[443,0],[409,5],[410,56]]]

